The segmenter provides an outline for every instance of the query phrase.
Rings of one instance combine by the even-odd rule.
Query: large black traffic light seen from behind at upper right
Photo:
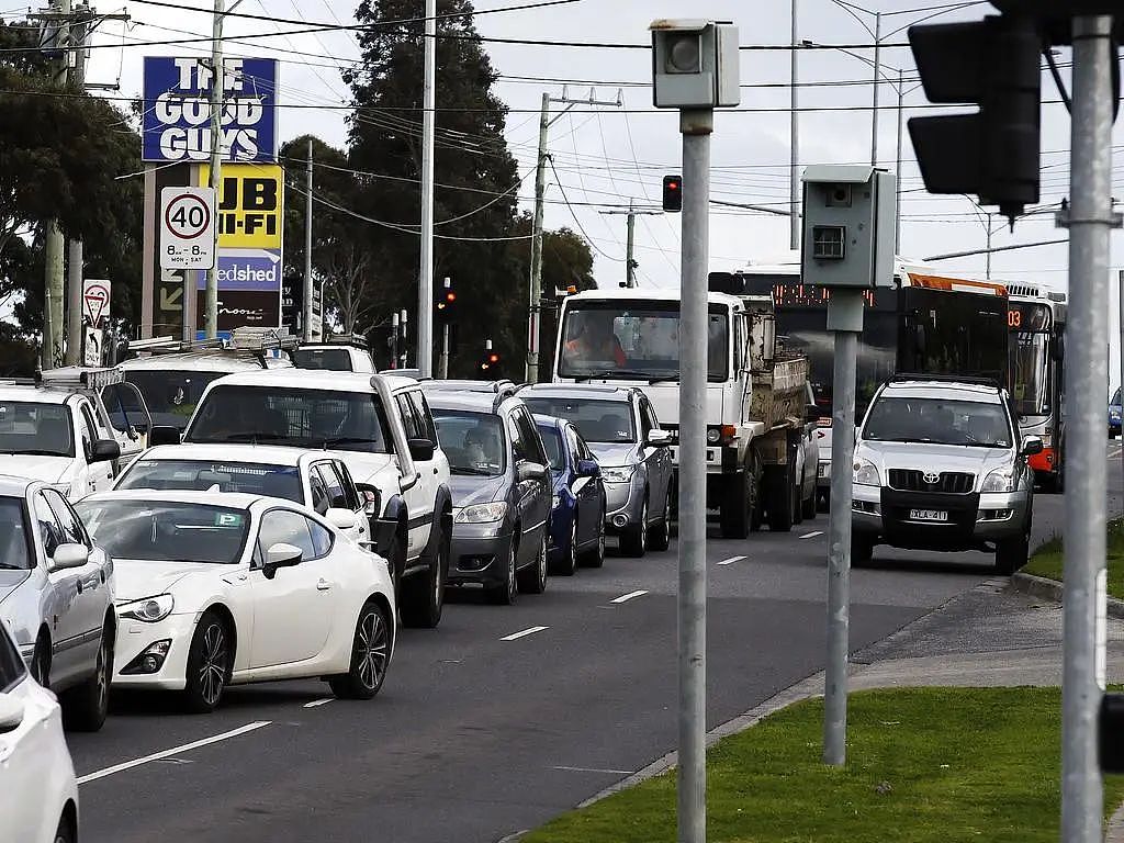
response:
[[[990,15],[909,28],[931,102],[973,102],[978,114],[913,117],[909,136],[931,193],[976,193],[1010,219],[1039,201],[1042,124],[1035,21]]]

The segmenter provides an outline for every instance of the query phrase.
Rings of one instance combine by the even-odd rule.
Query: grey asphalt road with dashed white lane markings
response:
[[[1121,477],[1114,462],[1117,513]],[[1061,510],[1036,497],[1036,538]],[[708,726],[822,669],[826,528],[709,542]],[[992,575],[984,554],[877,550],[852,573],[852,651]],[[514,607],[459,595],[439,629],[401,633],[370,703],[315,681],[235,688],[209,716],[116,697],[100,733],[69,736],[82,840],[491,843],[534,827],[674,747],[676,583],[672,543]]]

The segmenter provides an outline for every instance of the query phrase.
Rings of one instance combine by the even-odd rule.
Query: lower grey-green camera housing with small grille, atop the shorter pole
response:
[[[897,178],[872,166],[804,171],[804,283],[870,290],[894,285]]]

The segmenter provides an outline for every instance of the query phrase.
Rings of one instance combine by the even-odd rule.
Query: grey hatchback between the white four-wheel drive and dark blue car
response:
[[[551,480],[543,442],[518,398],[430,391],[453,492],[451,586],[479,583],[493,602],[546,588]]]

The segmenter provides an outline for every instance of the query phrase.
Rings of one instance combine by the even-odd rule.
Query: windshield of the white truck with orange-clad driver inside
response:
[[[711,305],[708,379],[729,375],[729,309]],[[679,380],[678,301],[582,301],[566,305],[558,373],[597,380]]]

